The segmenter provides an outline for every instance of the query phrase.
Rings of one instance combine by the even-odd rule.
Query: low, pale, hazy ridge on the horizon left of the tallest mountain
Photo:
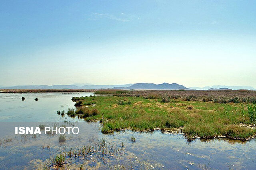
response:
[[[83,90],[98,90],[98,89],[112,89],[113,87],[128,87],[132,84],[124,84],[124,85],[84,85],[84,86],[76,86],[76,85],[25,85],[25,86],[9,86],[9,87],[1,87],[1,89],[83,89]]]

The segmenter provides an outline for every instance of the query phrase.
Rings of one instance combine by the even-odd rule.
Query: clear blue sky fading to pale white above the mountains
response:
[[[255,0],[1,0],[0,85],[256,87]]]

